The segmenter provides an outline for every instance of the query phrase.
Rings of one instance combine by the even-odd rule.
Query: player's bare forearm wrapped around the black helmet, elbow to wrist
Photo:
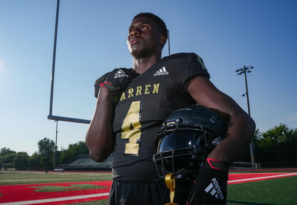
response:
[[[230,128],[223,141],[209,154],[208,158],[218,159],[230,165],[248,149],[256,125],[248,114],[239,113],[231,115],[228,126]]]

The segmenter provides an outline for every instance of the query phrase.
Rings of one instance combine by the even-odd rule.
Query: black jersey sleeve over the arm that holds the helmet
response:
[[[196,104],[196,102],[189,95],[186,88],[187,88],[188,82],[197,76],[205,76],[207,79],[210,79],[210,75],[204,65],[204,61],[202,60],[202,58],[199,55],[197,55],[196,53],[192,53],[191,58],[190,58],[190,64],[189,64],[187,76],[183,82],[184,94],[187,97],[187,99],[189,100],[189,102],[191,102],[192,104],[193,103]]]

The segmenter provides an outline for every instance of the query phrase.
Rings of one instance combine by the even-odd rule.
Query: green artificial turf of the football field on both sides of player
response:
[[[111,174],[1,171],[0,185],[111,180]],[[50,189],[51,187],[49,187]],[[90,187],[87,187],[90,188]],[[228,185],[228,205],[296,205],[297,176]],[[103,205],[107,199],[74,203]]]

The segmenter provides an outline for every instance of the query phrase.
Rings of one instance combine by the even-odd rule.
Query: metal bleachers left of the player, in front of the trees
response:
[[[104,162],[95,162],[90,158],[90,155],[84,154],[79,155],[76,158],[66,162],[65,164],[60,164],[57,168],[64,170],[101,170],[101,171],[111,171],[111,165],[114,161],[113,153]]]

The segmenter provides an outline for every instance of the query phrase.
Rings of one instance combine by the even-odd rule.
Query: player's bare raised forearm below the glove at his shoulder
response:
[[[114,147],[111,128],[112,103],[111,93],[101,88],[95,113],[86,133],[86,145],[90,150],[91,158],[96,162],[104,161]]]

